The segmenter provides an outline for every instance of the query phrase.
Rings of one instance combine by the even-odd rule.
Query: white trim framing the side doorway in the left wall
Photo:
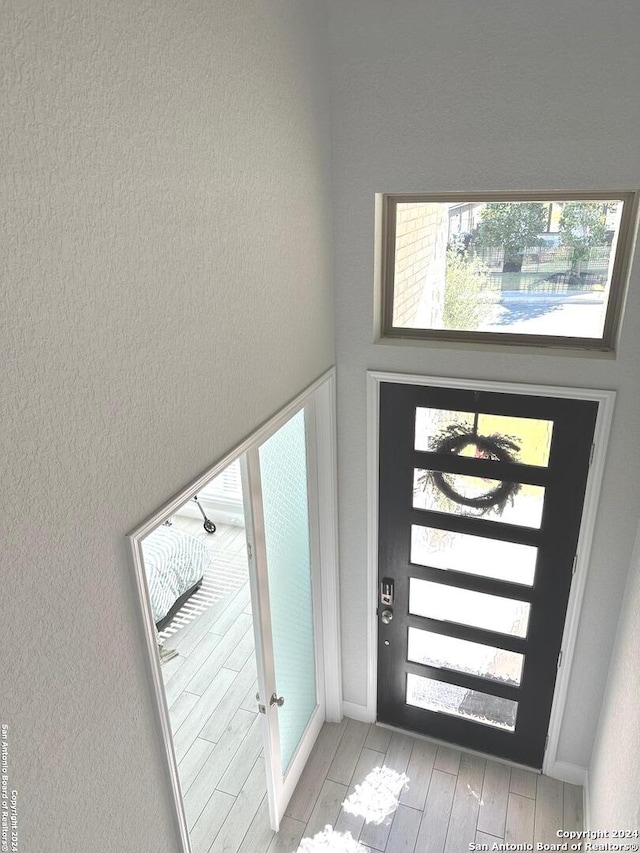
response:
[[[340,651],[340,610],[338,597],[338,537],[337,537],[337,458],[335,440],[335,367],[332,367],[304,391],[298,394],[283,409],[251,435],[247,436],[235,448],[225,454],[218,462],[204,471],[189,485],[181,489],[174,497],[163,504],[141,525],[127,535],[131,560],[136,579],[136,588],[142,613],[142,625],[145,636],[146,655],[151,669],[153,695],[158,712],[160,739],[166,756],[166,768],[169,775],[175,816],[180,839],[180,853],[192,853],[189,842],[187,819],[180,788],[178,763],[173,748],[169,708],[164,692],[164,682],[158,656],[156,630],[151,612],[149,591],[144,571],[142,542],[156,527],[170,518],[176,510],[198,492],[202,491],[211,479],[220,474],[228,465],[242,457],[252,448],[257,448],[282,424],[291,418],[307,403],[315,411],[315,448],[316,480],[318,484],[317,518],[313,520],[318,531],[318,549],[321,556],[322,599],[322,671],[324,673],[324,692],[326,696],[326,716],[328,720],[339,720],[342,716],[342,680]],[[326,639],[326,642],[324,641]],[[322,721],[320,721],[321,724]],[[296,761],[306,761],[308,755],[300,754]]]

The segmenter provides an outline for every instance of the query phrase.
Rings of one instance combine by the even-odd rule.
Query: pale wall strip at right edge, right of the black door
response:
[[[640,529],[589,767],[589,828],[640,829]]]

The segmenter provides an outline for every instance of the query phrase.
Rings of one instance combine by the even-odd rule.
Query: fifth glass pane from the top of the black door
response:
[[[513,685],[520,684],[524,662],[524,656],[517,652],[419,628],[409,628],[408,658],[415,663],[467,672]]]

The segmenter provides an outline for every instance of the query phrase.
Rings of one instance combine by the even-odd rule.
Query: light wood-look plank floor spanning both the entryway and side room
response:
[[[194,853],[466,853],[582,828],[581,788],[344,719],[324,725],[274,834],[248,585],[171,645],[163,676]]]

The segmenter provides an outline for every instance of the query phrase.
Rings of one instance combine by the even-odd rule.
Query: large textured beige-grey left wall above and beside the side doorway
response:
[[[25,853],[176,850],[125,534],[334,361],[323,17],[1,7],[0,721]]]

